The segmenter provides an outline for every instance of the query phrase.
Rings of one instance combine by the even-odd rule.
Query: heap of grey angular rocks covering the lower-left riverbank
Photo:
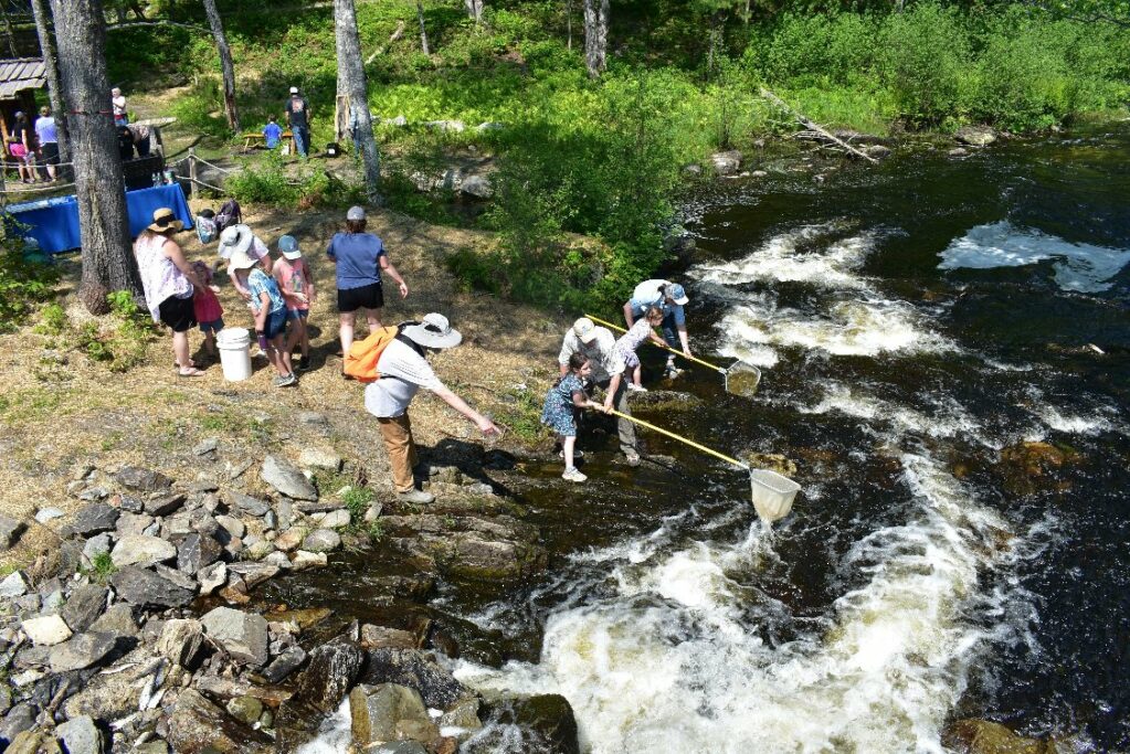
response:
[[[202,442],[195,451],[215,449]],[[538,571],[546,553],[537,529],[489,483],[425,465],[440,508],[362,509],[347,502],[356,488],[321,489],[357,473],[325,448],[303,448],[296,462],[272,454],[215,467],[215,476],[180,481],[80,465],[68,485],[82,503],[73,515],[36,511],[33,527],[55,545],[0,582],[0,672],[9,682],[0,748],[292,752],[348,695],[353,743],[365,751],[454,752],[507,716],[545,728],[556,740],[547,751],[576,749],[567,702],[486,703],[433,655],[458,647],[426,622],[411,631],[342,625],[325,608],[250,605],[271,579],[332,568],[341,547],[408,555],[418,571],[398,581],[400,598],[425,599],[436,578]],[[27,527],[6,517],[0,528],[8,549]]]

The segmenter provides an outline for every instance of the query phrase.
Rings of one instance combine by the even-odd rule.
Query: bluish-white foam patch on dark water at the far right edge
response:
[[[1130,263],[1130,249],[1072,244],[1032,228],[1001,221],[982,225],[941,253],[940,270],[1017,268],[1053,260],[1055,283],[1064,290],[1099,292]]]

